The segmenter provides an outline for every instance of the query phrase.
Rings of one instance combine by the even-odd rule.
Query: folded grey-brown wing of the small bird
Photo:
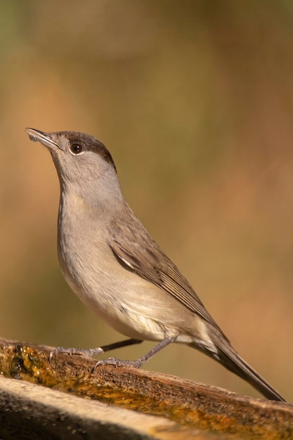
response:
[[[118,226],[115,222],[112,225],[111,235],[114,235],[114,240],[109,245],[119,263],[165,290],[185,307],[219,328],[188,280],[150,237],[138,219],[134,217],[134,220],[134,224],[129,222]]]

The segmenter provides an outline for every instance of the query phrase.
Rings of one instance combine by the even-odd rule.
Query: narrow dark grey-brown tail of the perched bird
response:
[[[267,399],[285,402],[285,399],[268,382],[266,382],[259,373],[256,373],[256,371],[245,362],[239,354],[237,354],[237,351],[233,349],[228,339],[226,339],[221,332],[213,331],[212,339],[216,351],[203,349],[205,354],[208,354],[228,370],[249,382],[252,387],[257,389]],[[199,348],[198,345],[190,345],[197,349]]]

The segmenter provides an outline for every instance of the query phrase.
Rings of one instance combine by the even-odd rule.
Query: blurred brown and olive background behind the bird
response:
[[[56,170],[24,129],[85,131],[235,349],[293,401],[292,3],[1,0],[0,22],[1,336],[124,339],[63,280]],[[259,396],[180,345],[145,368]]]

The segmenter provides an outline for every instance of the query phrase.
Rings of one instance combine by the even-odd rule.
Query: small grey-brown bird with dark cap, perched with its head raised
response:
[[[96,349],[54,349],[93,356],[118,347],[157,342],[134,361],[98,365],[140,368],[176,342],[193,347],[249,382],[267,399],[285,399],[237,354],[188,280],[126,202],[109,150],[78,131],[25,129],[51,153],[60,181],[58,259],[73,292],[129,339]]]

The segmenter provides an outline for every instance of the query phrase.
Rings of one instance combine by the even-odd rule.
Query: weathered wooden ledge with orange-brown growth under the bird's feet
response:
[[[51,436],[42,436],[48,439],[66,438],[58,436],[66,426],[72,439],[293,439],[293,406],[287,403],[134,368],[107,365],[93,373],[95,361],[84,356],[59,354],[49,362],[52,349],[0,339],[0,372],[10,378],[0,380],[0,436],[6,422],[19,422],[30,433],[50,427]],[[90,428],[96,429],[93,437]]]

